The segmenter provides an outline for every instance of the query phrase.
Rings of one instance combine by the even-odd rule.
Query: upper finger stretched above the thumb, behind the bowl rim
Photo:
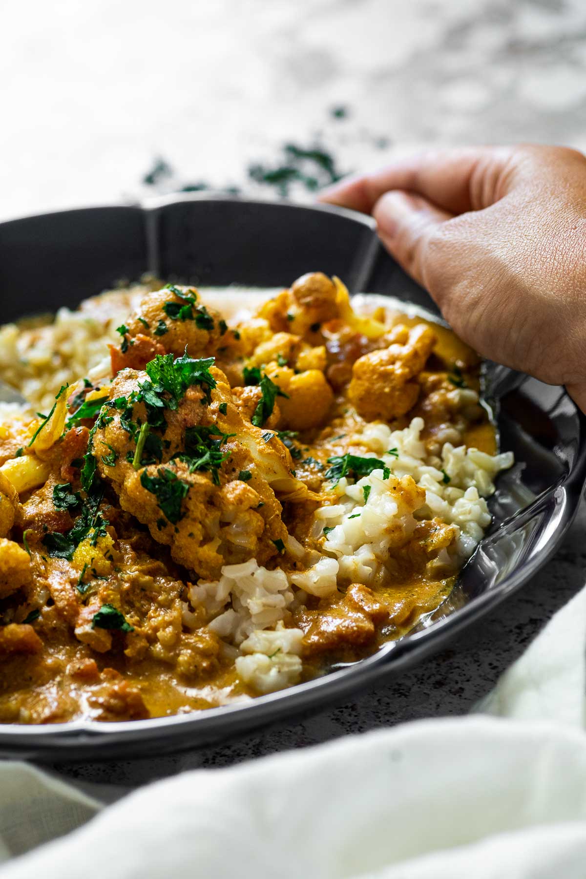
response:
[[[506,147],[436,150],[398,159],[320,193],[320,200],[370,214],[383,193],[402,189],[422,195],[452,214],[479,210],[502,197],[503,171],[512,151]]]

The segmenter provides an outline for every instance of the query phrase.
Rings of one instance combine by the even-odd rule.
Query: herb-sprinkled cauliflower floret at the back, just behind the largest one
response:
[[[171,285],[146,294],[128,318],[127,328],[131,339],[152,339],[177,357],[183,354],[185,346],[190,357],[209,357],[234,338],[221,314],[200,301],[195,287]],[[130,347],[129,340],[127,353]]]

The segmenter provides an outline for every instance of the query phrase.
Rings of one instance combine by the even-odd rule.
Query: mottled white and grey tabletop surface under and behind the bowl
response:
[[[586,148],[583,0],[4,0],[0,34],[0,219],[141,198],[156,156],[175,171],[163,190],[258,192],[249,163],[287,141],[322,142],[344,171],[426,145]],[[229,745],[65,772],[134,784],[466,712],[582,585],[584,519],[531,585],[376,692]]]

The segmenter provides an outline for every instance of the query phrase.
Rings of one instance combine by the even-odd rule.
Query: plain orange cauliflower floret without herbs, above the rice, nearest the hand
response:
[[[436,337],[418,323],[402,324],[389,334],[389,345],[359,357],[352,367],[348,389],[351,403],[366,421],[391,421],[409,412],[419,396],[417,375],[423,370]]]

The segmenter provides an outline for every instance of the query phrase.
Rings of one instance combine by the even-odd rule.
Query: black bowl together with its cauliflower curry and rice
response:
[[[364,217],[190,197],[7,222],[0,251],[0,752],[322,707],[574,515],[574,404],[481,363]]]

